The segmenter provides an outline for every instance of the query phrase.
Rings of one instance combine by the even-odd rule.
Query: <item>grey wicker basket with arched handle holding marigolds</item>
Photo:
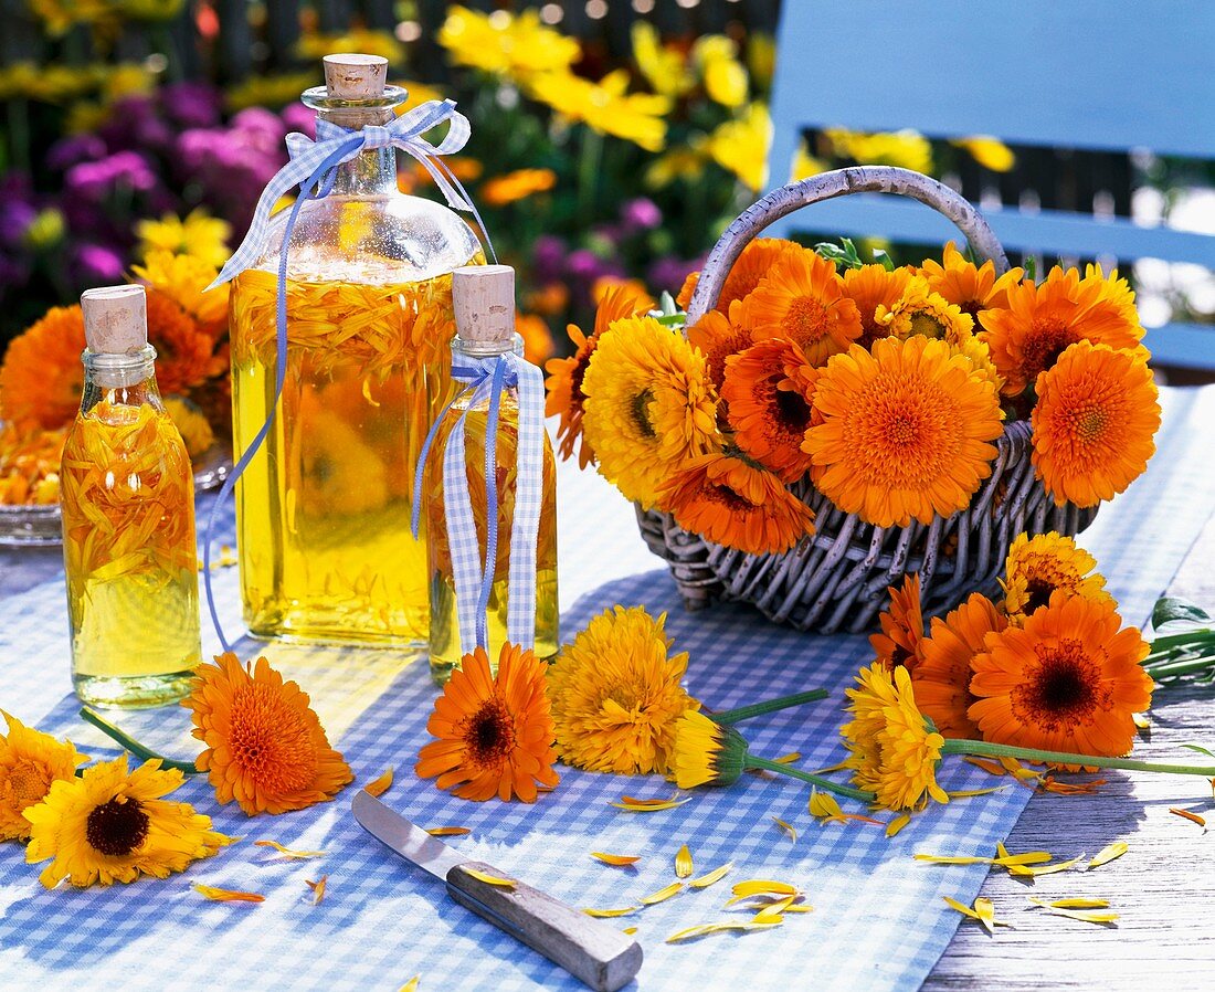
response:
[[[855,192],[910,196],[946,218],[996,274],[1008,260],[974,207],[928,176],[891,167],[857,167],[824,173],[774,190],[748,208],[710,253],[688,308],[688,323],[712,309],[739,254],[774,220],[816,203]],[[1034,478],[1030,427],[1013,421],[996,440],[991,475],[970,507],[928,525],[880,528],[838,509],[808,481],[793,486],[815,513],[815,534],[782,554],[746,554],[705,541],[679,528],[667,513],[638,511],[642,536],[671,568],[688,609],[714,601],[753,603],[765,616],[804,631],[833,633],[876,627],[886,588],[920,573],[925,613],[940,615],[971,592],[994,593],[1012,540],[1027,531],[1074,535],[1096,508],[1057,507]]]

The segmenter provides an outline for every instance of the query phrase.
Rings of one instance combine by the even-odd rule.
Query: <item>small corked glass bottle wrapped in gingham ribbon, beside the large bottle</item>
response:
[[[488,359],[514,353],[522,360],[522,338],[515,332],[514,270],[505,265],[457,269],[452,276],[456,337],[452,363],[460,359]],[[477,547],[484,565],[487,498],[485,485],[485,433],[488,402],[457,399],[443,417],[426,457],[423,481],[430,571],[430,672],[442,684],[462,656],[456,580],[452,575],[443,502],[443,451],[460,415],[464,419],[464,462],[468,491],[476,524]],[[498,496],[498,549],[493,586],[487,609],[490,664],[497,667],[498,653],[507,639],[507,593],[510,575],[510,535],[515,508],[515,452],[519,434],[519,393],[504,389],[498,413],[496,446]],[[556,602],[556,462],[548,434],[544,434],[543,494],[536,547],[536,641],[539,659],[552,658],[558,648]]]

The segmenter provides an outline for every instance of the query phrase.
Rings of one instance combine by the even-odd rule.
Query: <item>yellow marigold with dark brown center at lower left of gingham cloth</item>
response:
[[[159,759],[129,772],[126,755],[56,780],[43,802],[26,810],[26,861],[51,862],[39,875],[47,889],[63,879],[83,889],[183,872],[232,838],[213,830],[211,818],[188,802],[163,797],[182,780],[180,771],[163,771]]]

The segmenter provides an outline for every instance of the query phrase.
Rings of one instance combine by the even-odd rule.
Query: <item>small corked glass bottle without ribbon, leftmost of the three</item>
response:
[[[63,565],[77,695],[157,706],[202,660],[194,480],[160,402],[142,286],[89,289],[84,398],[63,446]]]

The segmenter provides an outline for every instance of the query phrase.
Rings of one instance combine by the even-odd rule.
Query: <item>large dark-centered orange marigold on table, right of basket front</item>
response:
[[[987,740],[1101,756],[1135,742],[1152,703],[1148,644],[1108,602],[1057,592],[1023,627],[988,635],[974,655],[968,710]]]

